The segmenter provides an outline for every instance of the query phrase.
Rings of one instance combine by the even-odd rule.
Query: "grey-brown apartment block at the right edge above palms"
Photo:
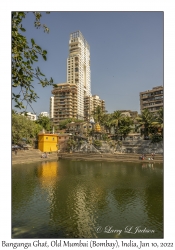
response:
[[[163,87],[158,86],[140,92],[140,111],[148,109],[150,112],[157,112],[163,107]]]

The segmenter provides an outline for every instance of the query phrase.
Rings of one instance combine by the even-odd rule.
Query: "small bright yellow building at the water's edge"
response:
[[[39,134],[38,149],[42,152],[54,152],[58,150],[58,135],[56,134]]]

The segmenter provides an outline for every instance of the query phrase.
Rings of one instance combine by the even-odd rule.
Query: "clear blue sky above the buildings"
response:
[[[23,20],[23,35],[47,50],[47,61],[40,58],[35,66],[54,83],[67,81],[69,36],[80,30],[90,45],[91,92],[105,100],[109,113],[123,109],[140,113],[139,93],[163,86],[163,11],[41,14],[49,34],[34,27],[34,15],[29,12]],[[34,89],[40,98],[32,104],[33,111],[37,115],[49,112],[52,87],[42,88],[34,82]]]

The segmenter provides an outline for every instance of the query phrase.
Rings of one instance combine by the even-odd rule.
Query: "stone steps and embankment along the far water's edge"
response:
[[[57,153],[48,154],[48,158],[41,158],[42,152],[38,149],[21,150],[18,151],[17,155],[12,152],[12,165],[14,164],[24,164],[39,161],[54,161],[58,160]],[[60,159],[70,159],[70,160],[85,160],[85,161],[110,161],[110,162],[152,162],[152,163],[162,163],[163,155],[156,154],[154,160],[149,160],[151,158],[150,154],[147,154],[144,160],[139,160],[140,154],[132,153],[122,153],[122,154],[99,154],[99,153],[59,153]]]

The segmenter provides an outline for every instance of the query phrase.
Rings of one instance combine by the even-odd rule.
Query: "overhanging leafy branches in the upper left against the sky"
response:
[[[40,71],[39,67],[34,68],[34,63],[38,62],[38,57],[47,60],[47,51],[37,45],[32,38],[27,41],[27,38],[22,35],[25,28],[22,26],[22,20],[26,17],[26,12],[12,12],[12,88],[16,88],[18,94],[12,90],[12,100],[15,102],[15,107],[26,109],[24,102],[31,106],[33,101],[38,98],[35,93],[32,82],[34,79],[43,87],[53,85],[53,79],[48,80]],[[44,32],[48,33],[49,29],[46,25],[41,25],[39,12],[34,12],[36,28],[43,26]],[[15,91],[16,92],[16,91]]]

